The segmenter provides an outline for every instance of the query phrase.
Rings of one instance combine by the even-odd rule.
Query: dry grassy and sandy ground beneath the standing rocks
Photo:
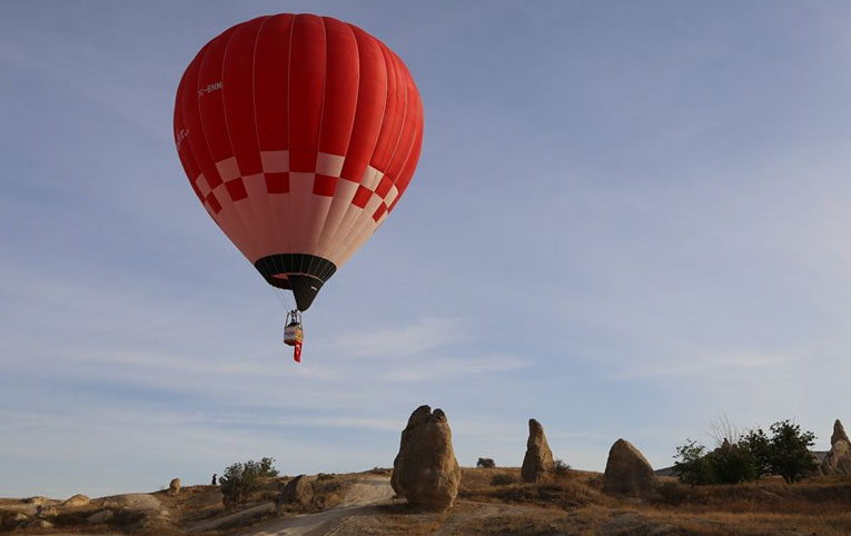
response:
[[[226,509],[215,486],[96,498],[86,506],[47,499],[42,516],[26,499],[0,499],[0,532],[12,535],[783,535],[851,534],[851,477],[780,479],[736,486],[687,487],[660,479],[642,499],[602,493],[602,475],[568,470],[541,484],[519,483],[519,469],[463,469],[452,509],[431,513],[394,498],[389,470],[309,477],[309,504],[278,506],[287,477],[268,479],[250,502]],[[52,509],[51,509],[52,508]],[[88,519],[109,510],[102,523]],[[44,515],[47,514],[47,515]],[[26,516],[26,519],[22,517]],[[108,515],[107,515],[108,516]],[[52,527],[39,527],[39,520]]]

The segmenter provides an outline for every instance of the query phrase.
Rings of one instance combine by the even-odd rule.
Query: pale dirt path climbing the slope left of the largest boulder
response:
[[[373,506],[389,503],[394,496],[388,477],[357,482],[346,493],[340,506],[319,514],[275,519],[241,533],[241,536],[325,536],[337,532],[337,520],[367,513]]]

